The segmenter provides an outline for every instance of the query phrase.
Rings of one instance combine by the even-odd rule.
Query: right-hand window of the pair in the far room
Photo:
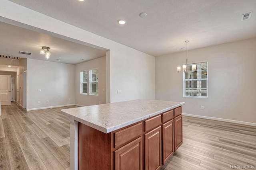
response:
[[[89,94],[98,95],[98,69],[89,70]]]

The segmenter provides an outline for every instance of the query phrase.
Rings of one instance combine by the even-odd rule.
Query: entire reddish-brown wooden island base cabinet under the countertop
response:
[[[160,170],[182,145],[182,107],[111,133],[78,123],[78,169]]]

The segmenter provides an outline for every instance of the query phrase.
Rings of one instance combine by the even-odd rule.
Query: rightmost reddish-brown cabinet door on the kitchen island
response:
[[[182,115],[174,118],[174,152],[182,144]]]

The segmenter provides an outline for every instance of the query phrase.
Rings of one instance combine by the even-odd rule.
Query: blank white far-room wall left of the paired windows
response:
[[[75,103],[75,65],[28,59],[28,110]],[[41,92],[38,92],[41,89]],[[69,100],[70,98],[70,100]],[[40,104],[38,104],[38,100]],[[49,100],[49,103],[46,102]]]

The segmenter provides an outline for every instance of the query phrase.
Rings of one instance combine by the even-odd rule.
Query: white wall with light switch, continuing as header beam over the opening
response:
[[[47,21],[45,22],[40,21]],[[155,98],[155,57],[50,18],[8,0],[1,0],[0,21],[63,39],[109,49],[106,54],[106,102]],[[122,94],[117,94],[122,90]]]

